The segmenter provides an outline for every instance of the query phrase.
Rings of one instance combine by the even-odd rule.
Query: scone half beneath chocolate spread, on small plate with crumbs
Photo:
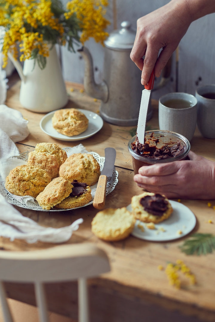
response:
[[[144,207],[140,203],[140,200],[146,196],[154,196],[154,195],[156,194],[152,192],[143,192],[142,194],[132,197],[132,201],[131,201],[132,213],[136,219],[139,219],[144,223],[160,223],[163,220],[170,217],[171,213],[173,212],[173,209],[169,200],[166,198],[165,195],[161,195],[161,196],[164,198],[166,202],[167,209],[161,216],[153,215],[149,211],[147,212],[146,210],[144,210]]]

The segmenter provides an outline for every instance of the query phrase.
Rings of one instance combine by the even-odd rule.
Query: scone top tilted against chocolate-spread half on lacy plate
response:
[[[72,192],[71,182],[62,177],[54,178],[45,189],[38,194],[36,201],[46,210],[50,210],[56,204],[68,197]]]

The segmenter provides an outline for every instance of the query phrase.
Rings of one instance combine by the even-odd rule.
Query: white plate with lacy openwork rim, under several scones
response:
[[[70,155],[71,149],[72,149],[71,147],[65,147],[64,148],[64,150],[66,151],[67,155]],[[89,153],[92,154],[93,157],[98,161],[98,163],[100,165],[100,169],[102,171],[103,166],[104,166],[105,157],[104,156],[99,156],[99,154],[96,153],[96,152],[89,152]],[[27,161],[28,160],[28,154],[29,154],[29,152],[23,152],[18,156],[18,158],[23,160],[23,161]],[[115,188],[115,185],[117,184],[117,182],[118,182],[118,172],[115,170],[115,167],[114,167],[112,177],[108,177],[108,179],[107,179],[106,196],[113,191],[113,189]],[[97,187],[97,183],[90,187],[91,188],[91,194],[92,194],[92,200],[88,204],[85,204],[82,207],[86,207],[86,206],[88,206],[90,204],[93,204],[93,199],[94,199],[94,196],[95,196],[96,187]],[[0,193],[5,197],[7,202],[9,202],[10,204],[13,204],[15,206],[22,207],[22,208],[25,208],[25,209],[53,212],[53,211],[67,211],[67,210],[74,210],[74,209],[77,209],[77,208],[82,208],[82,207],[76,207],[76,208],[71,208],[71,209],[53,208],[51,210],[42,209],[42,207],[40,207],[39,204],[37,203],[37,201],[34,200],[32,197],[30,197],[32,201],[27,201],[26,202],[26,199],[24,197],[15,196],[14,194],[11,194],[9,191],[7,191],[5,189],[5,183],[4,183],[1,175],[0,175]]]

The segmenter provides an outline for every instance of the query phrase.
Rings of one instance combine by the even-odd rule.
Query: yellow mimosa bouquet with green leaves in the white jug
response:
[[[39,60],[49,55],[47,43],[84,43],[90,37],[103,44],[109,24],[103,16],[107,0],[73,0],[64,9],[60,0],[1,0],[0,26],[5,28],[2,42],[3,67],[10,51],[14,58]],[[44,62],[44,59],[43,59]],[[41,66],[41,64],[39,64]]]

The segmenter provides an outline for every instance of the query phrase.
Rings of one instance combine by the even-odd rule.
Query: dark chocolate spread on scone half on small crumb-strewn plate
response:
[[[168,202],[161,194],[145,196],[141,198],[140,204],[147,213],[151,213],[154,216],[162,216],[168,208]]]

